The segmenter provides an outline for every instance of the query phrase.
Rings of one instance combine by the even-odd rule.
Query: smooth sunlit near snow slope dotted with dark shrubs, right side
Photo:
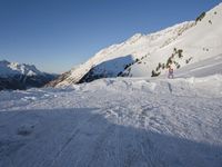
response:
[[[159,62],[161,65],[167,65],[168,59],[174,53],[174,48],[182,50],[182,58],[178,58],[178,55],[175,55],[172,59],[176,61],[180,67],[186,66],[186,60],[190,58],[191,60],[189,63],[194,63],[209,58],[213,59],[213,57],[221,55],[222,3],[206,12],[205,17],[201,21],[198,21],[195,27],[185,31],[175,41],[152,52],[150,57],[141,60],[141,63],[133,65],[130,73],[132,76],[145,76],[151,73],[152,70],[155,70]],[[176,69],[175,66],[174,69]],[[165,69],[158,71],[164,73]]]

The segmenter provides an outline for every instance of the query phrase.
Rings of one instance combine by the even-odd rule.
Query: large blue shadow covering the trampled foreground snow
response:
[[[0,167],[222,164],[221,146],[120,124],[89,108],[0,112]]]

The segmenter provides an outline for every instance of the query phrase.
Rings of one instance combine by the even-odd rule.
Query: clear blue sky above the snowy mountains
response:
[[[0,0],[0,60],[63,72],[137,32],[195,19],[221,0]]]

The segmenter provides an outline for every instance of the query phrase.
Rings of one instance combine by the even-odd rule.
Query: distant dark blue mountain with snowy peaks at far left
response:
[[[33,65],[0,61],[0,90],[42,87],[56,77],[41,72]]]

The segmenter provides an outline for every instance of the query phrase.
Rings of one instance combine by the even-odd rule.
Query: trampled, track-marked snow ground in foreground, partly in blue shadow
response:
[[[222,76],[0,92],[0,167],[222,164]]]

